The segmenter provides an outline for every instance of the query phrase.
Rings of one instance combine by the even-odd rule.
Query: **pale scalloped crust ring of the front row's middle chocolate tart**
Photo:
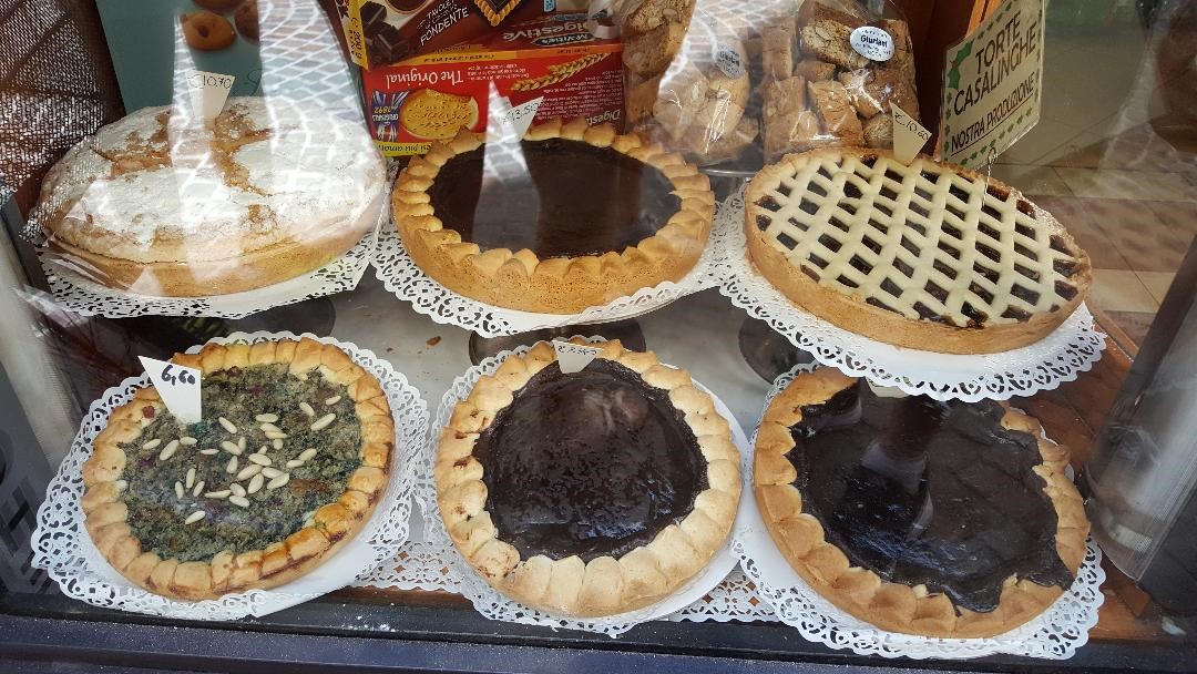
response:
[[[575,344],[584,344],[575,340]],[[662,529],[652,542],[619,559],[577,555],[522,559],[515,546],[498,538],[486,511],[482,464],[474,443],[512,394],[554,360],[552,345],[539,342],[524,356],[511,356],[494,375],[479,379],[469,397],[454,408],[440,432],[435,479],[440,517],[454,545],[494,589],[546,613],[570,617],[614,615],[650,606],[694,577],[723,547],[740,503],[740,451],[727,419],[715,411],[710,394],[694,387],[685,370],[662,365],[651,352],[626,351],[616,341],[595,344],[598,358],[614,360],[644,383],[669,391],[674,407],[698,438],[706,461],[707,488],[678,524]]]

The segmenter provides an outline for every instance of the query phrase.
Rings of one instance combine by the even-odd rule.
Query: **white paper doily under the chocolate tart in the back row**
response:
[[[718,208],[718,205],[716,205]],[[718,223],[718,219],[716,219]],[[712,227],[711,239],[698,263],[680,281],[666,281],[615,299],[603,306],[591,306],[579,314],[534,314],[504,309],[472,299],[440,285],[424,273],[403,247],[394,219],[384,221],[378,232],[373,263],[378,279],[395,297],[438,323],[473,330],[485,338],[514,335],[543,328],[604,323],[632,318],[660,309],[675,299],[719,285],[718,241],[727,232]]]

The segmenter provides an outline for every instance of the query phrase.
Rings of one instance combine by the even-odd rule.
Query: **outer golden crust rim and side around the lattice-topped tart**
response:
[[[778,249],[778,245],[771,241],[766,232],[755,225],[758,215],[768,217],[768,211],[758,206],[757,201],[774,189],[785,176],[794,175],[798,168],[812,162],[821,162],[824,158],[841,158],[849,154],[856,154],[859,158],[869,156],[893,158],[891,152],[875,148],[827,147],[812,150],[801,154],[786,154],[780,162],[761,169],[748,183],[745,198],[745,233],[747,235],[749,257],[765,279],[802,309],[840,328],[886,344],[941,353],[973,354],[996,353],[1034,344],[1058,328],[1084,300],[1086,292],[1093,281],[1089,257],[1051,213],[1032,204],[1013,187],[964,166],[936,163],[923,154],[918,156],[911,164],[909,169],[911,172],[917,175],[923,166],[936,170],[946,169],[967,180],[988,181],[990,187],[1009,194],[1009,201],[1029,204],[1034,208],[1035,219],[1043,223],[1051,235],[1062,237],[1070,253],[1076,257],[1076,271],[1069,277],[1069,280],[1076,286],[1076,295],[1070,300],[1062,300],[1061,308],[1055,311],[1032,312],[1027,321],[986,322],[984,327],[976,328],[909,318],[901,314],[873,306],[864,302],[864,297],[841,292],[812,279]],[[802,198],[802,194],[790,196],[790,199],[798,200]]]

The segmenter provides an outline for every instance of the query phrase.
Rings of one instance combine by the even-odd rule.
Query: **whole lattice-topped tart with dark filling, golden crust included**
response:
[[[879,150],[786,156],[748,186],[761,274],[795,304],[871,339],[943,353],[1033,344],[1084,299],[1089,259],[1016,189]]]

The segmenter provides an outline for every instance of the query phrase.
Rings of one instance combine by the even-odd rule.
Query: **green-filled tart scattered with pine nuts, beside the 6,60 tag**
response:
[[[267,589],[353,539],[383,497],[394,424],[378,381],[311,339],[205,346],[202,419],[157,389],[113,411],[83,467],[87,533],[132,583],[181,600]]]

